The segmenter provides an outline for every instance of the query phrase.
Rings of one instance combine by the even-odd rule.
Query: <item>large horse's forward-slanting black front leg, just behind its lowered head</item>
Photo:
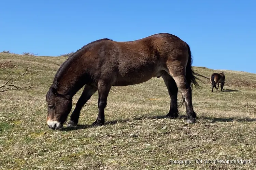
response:
[[[82,95],[76,102],[75,109],[70,115],[70,121],[68,122],[68,126],[71,127],[71,126],[77,125],[82,107],[85,105],[85,103],[91,98],[91,96],[96,91],[97,91],[97,87],[85,85]]]

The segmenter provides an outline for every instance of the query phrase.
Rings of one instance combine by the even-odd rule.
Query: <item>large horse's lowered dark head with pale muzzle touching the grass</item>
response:
[[[66,121],[69,112],[72,108],[72,99],[58,94],[57,89],[51,87],[46,94],[46,101],[48,105],[47,124],[51,129],[59,129]]]

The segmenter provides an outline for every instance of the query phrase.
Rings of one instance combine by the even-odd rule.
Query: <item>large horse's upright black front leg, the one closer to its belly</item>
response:
[[[98,108],[99,113],[96,121],[93,123],[93,125],[103,125],[105,122],[104,117],[104,109],[107,105],[107,98],[109,95],[109,91],[111,88],[111,85],[109,83],[110,81],[99,81],[98,83],[98,93],[99,93],[99,99],[98,99]]]

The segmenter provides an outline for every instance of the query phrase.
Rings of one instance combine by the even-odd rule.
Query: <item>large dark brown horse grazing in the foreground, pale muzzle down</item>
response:
[[[170,95],[167,117],[178,117],[177,93],[185,101],[187,123],[196,121],[191,87],[196,82],[187,43],[179,37],[159,33],[139,40],[117,42],[110,39],[93,41],[72,54],[58,69],[49,91],[47,124],[59,129],[72,108],[72,97],[84,86],[70,116],[68,126],[77,125],[80,111],[98,90],[98,117],[93,125],[103,125],[104,109],[111,86],[128,86],[162,77]],[[199,80],[199,79],[198,79]],[[155,87],[157,88],[157,86]]]

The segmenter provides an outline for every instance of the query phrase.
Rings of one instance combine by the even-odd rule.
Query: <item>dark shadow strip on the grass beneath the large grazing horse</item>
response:
[[[180,115],[178,118],[175,119],[182,119],[183,121],[187,118],[186,115]],[[145,120],[145,119],[171,119],[167,118],[166,116],[147,116],[143,115],[141,117],[135,117],[132,119],[123,119],[123,120],[113,120],[109,122],[105,122],[104,125],[115,125],[117,123],[126,123],[131,120]],[[205,117],[205,116],[198,116],[197,117],[197,122],[202,121],[202,120],[208,120],[211,121],[211,123],[216,123],[216,122],[256,122],[256,119],[251,119],[251,118],[243,118],[243,119],[238,119],[238,118],[217,118],[217,117]],[[196,123],[197,123],[196,122]],[[95,125],[91,124],[78,124],[74,127],[67,127],[67,128],[62,128],[62,131],[72,131],[72,130],[79,130],[79,129],[87,129],[87,128],[94,128]]]

